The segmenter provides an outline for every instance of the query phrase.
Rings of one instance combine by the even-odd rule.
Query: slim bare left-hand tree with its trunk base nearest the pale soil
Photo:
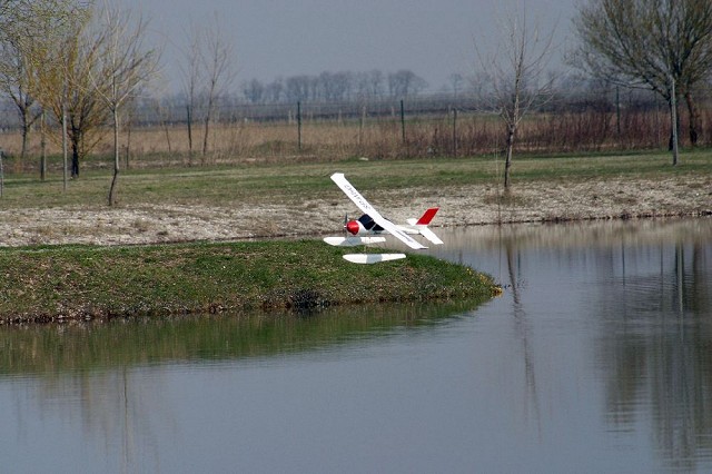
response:
[[[113,125],[113,177],[109,188],[109,206],[113,206],[120,170],[120,109],[156,75],[158,51],[145,46],[148,23],[141,17],[134,18],[130,11],[107,3],[99,18],[95,39],[99,55],[92,86],[109,109]]]

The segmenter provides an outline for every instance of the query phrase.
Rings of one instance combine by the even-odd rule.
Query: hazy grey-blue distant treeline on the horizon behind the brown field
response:
[[[284,91],[278,95],[251,95],[245,91],[244,95],[222,95],[217,99],[216,118],[221,122],[235,122],[240,120],[254,121],[291,121],[297,119],[300,109],[304,120],[334,120],[349,118],[376,118],[397,117],[403,111],[409,118],[428,115],[442,115],[457,109],[462,112],[482,112],[496,115],[492,100],[487,96],[486,85],[479,86],[477,90],[474,86],[454,88],[452,91],[426,93],[422,87],[408,86],[413,81],[403,79],[413,77],[418,82],[422,79],[409,71],[399,71],[395,75],[400,81],[389,79],[390,82],[398,82],[400,86],[372,88],[367,92],[362,89],[326,87],[326,79],[352,73],[327,73],[319,76],[298,76],[286,80],[278,80],[269,85],[256,86],[254,81],[250,87],[264,90],[276,88],[279,82],[284,86]],[[386,77],[379,71],[368,73],[354,73],[353,77]],[[353,79],[352,77],[352,79]],[[297,86],[287,86],[300,83]],[[378,83],[377,81],[372,85]],[[310,85],[307,87],[307,85]],[[245,86],[247,87],[247,86]],[[396,88],[398,92],[392,92]],[[298,92],[298,91],[300,92]],[[338,90],[338,93],[335,91]],[[257,98],[261,97],[261,100]],[[701,110],[705,110],[712,102],[712,88],[699,90]],[[198,100],[197,108],[200,108]],[[630,112],[653,111],[666,108],[665,101],[649,90],[629,89],[615,86],[609,87],[561,87],[554,91],[546,100],[542,101],[535,112],[543,113],[615,113],[616,121],[622,122],[625,117],[622,115]],[[680,113],[684,119],[685,110],[679,106]],[[156,126],[160,124],[180,125],[187,121],[186,97],[182,93],[167,95],[160,98],[141,97],[131,103],[130,122],[134,126]],[[0,127],[13,129],[19,126],[17,110],[13,103],[7,98],[0,99]],[[622,126],[622,125],[621,125]],[[619,124],[616,124],[619,127]]]

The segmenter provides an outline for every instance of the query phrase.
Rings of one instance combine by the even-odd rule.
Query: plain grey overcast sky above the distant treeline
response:
[[[219,18],[235,45],[238,82],[323,71],[409,69],[438,90],[453,72],[471,75],[474,41],[496,36],[507,0],[118,0],[150,20],[166,41],[166,76],[191,21]],[[577,0],[524,0],[526,16],[568,36]],[[170,79],[170,78],[169,78]],[[177,78],[170,79],[175,87]]]

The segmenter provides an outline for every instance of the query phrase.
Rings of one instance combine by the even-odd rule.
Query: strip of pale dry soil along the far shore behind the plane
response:
[[[712,215],[708,176],[665,180],[606,179],[585,182],[515,184],[508,194],[491,186],[384,191],[372,204],[390,220],[405,223],[431,206],[441,210],[433,227],[611,218]],[[343,201],[308,201],[216,208],[142,205],[0,210],[0,246],[131,245],[237,240],[340,233]]]

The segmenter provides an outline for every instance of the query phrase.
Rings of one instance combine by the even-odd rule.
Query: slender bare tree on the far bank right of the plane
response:
[[[553,50],[554,30],[542,33],[537,24],[527,23],[518,9],[502,20],[503,38],[491,55],[475,45],[479,67],[491,90],[485,100],[500,115],[506,128],[504,187],[510,188],[514,144],[522,119],[550,100],[553,79],[545,69]]]

